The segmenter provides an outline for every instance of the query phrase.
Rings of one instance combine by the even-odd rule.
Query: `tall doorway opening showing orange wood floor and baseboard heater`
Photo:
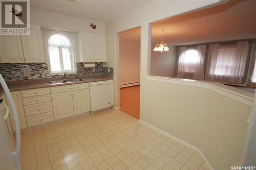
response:
[[[140,117],[140,27],[119,33],[120,110]]]

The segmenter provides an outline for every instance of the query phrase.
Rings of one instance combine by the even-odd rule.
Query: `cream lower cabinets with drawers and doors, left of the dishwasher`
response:
[[[33,127],[77,114],[89,114],[89,83],[12,91],[20,129]],[[12,114],[12,129],[15,129]]]

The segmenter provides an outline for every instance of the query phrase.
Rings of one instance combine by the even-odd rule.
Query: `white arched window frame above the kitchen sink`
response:
[[[54,34],[62,34],[64,36],[66,36],[70,40],[70,42],[72,44],[71,49],[72,49],[72,56],[73,56],[73,57],[71,56],[71,68],[73,67],[74,71],[73,70],[71,70],[71,71],[63,70],[63,58],[62,58],[62,48],[63,47],[59,47],[59,46],[56,46],[56,47],[59,48],[61,71],[52,71],[51,70],[51,62],[50,62],[49,43],[48,43],[48,41],[49,41],[50,37],[52,35],[54,35]],[[69,34],[67,34],[66,32],[60,31],[60,30],[51,31],[46,36],[45,47],[46,47],[46,60],[47,60],[47,64],[48,64],[49,75],[62,75],[63,73],[66,73],[66,74],[75,74],[76,73],[77,68],[76,68],[76,57],[75,57],[76,56],[76,54],[75,54],[75,43],[74,43],[73,38]],[[52,46],[52,47],[54,47],[54,46]],[[72,62],[74,63],[74,66],[72,66]]]

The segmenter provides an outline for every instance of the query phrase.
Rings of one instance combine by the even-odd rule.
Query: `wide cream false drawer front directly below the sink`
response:
[[[64,91],[80,90],[85,88],[89,88],[89,83],[55,86],[55,87],[51,87],[50,89],[51,89],[51,93],[57,93],[57,92],[64,92]]]

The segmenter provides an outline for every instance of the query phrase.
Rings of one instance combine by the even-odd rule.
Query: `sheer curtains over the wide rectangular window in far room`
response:
[[[248,48],[248,41],[238,42],[236,46],[224,47],[220,44],[211,44],[205,80],[242,83]]]

